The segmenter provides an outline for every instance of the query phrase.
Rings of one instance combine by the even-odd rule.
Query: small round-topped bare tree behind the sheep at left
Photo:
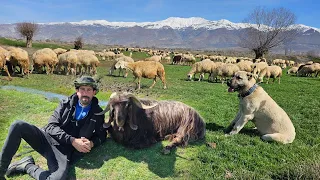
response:
[[[27,38],[27,47],[32,47],[32,38],[38,32],[39,25],[31,22],[17,23],[16,31],[20,33],[21,36]]]

